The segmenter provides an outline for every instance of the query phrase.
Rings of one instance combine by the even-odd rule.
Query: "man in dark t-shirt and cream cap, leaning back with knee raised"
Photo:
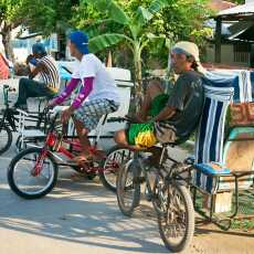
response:
[[[179,75],[170,95],[163,93],[158,81],[149,83],[141,109],[133,117],[128,129],[116,133],[115,141],[129,149],[138,149],[139,134],[149,121],[157,141],[174,142],[188,137],[195,128],[203,106],[203,87],[199,49],[192,42],[178,42],[171,50],[171,67]]]

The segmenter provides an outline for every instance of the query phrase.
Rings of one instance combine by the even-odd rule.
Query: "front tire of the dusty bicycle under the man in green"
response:
[[[126,187],[126,174],[128,172],[133,173],[131,179],[131,188],[129,186]],[[117,182],[116,182],[116,195],[117,195],[117,203],[121,211],[121,213],[126,216],[131,216],[135,209],[139,205],[140,202],[140,183],[138,181],[135,181],[135,178],[137,179],[140,176],[140,169],[136,168],[134,165],[134,160],[129,160],[127,163],[123,165],[120,167],[118,176],[117,176]],[[124,183],[124,184],[123,184]],[[134,190],[133,198],[130,200],[129,207],[127,207],[125,203],[125,195],[124,191],[131,191]]]

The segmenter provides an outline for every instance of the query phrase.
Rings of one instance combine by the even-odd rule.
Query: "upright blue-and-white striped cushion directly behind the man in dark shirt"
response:
[[[204,86],[204,108],[195,134],[195,162],[222,162],[224,123],[233,87]]]

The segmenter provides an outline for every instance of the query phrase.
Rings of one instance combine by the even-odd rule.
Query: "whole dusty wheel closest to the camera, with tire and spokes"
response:
[[[163,214],[158,215],[159,233],[170,252],[189,246],[194,234],[194,209],[189,190],[179,182],[163,188]]]

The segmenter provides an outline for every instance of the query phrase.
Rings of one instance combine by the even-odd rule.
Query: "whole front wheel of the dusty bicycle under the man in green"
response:
[[[140,169],[133,159],[119,169],[116,182],[116,195],[120,211],[126,216],[131,216],[135,208],[140,202],[140,183],[136,180],[140,176]]]

